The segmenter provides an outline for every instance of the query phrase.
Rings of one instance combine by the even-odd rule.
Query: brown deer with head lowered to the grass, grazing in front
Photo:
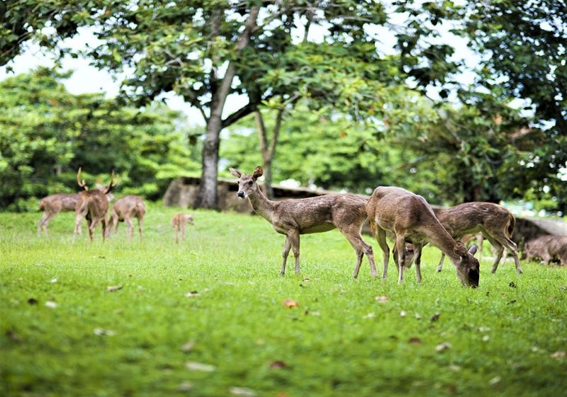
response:
[[[417,282],[421,282],[421,250],[424,243],[437,246],[449,256],[456,267],[456,275],[466,286],[478,287],[479,263],[473,255],[476,246],[466,251],[461,241],[455,241],[437,220],[433,209],[419,195],[402,188],[378,186],[371,195],[368,205],[370,229],[382,249],[384,271],[388,273],[390,250],[386,243],[386,231],[394,234],[394,262],[398,268],[398,282],[403,282],[403,268],[408,266],[405,243],[412,243],[415,251]]]

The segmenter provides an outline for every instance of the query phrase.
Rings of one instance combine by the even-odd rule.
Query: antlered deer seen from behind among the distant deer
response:
[[[106,212],[108,212],[108,193],[116,188],[118,183],[114,183],[114,171],[111,174],[111,183],[104,190],[89,190],[84,180],[81,180],[81,168],[77,172],[77,183],[83,189],[79,193],[79,201],[75,207],[75,231],[73,242],[79,234],[81,220],[86,218],[86,224],[89,226],[89,236],[93,241],[93,233],[99,222],[102,222],[102,240],[106,237]]]

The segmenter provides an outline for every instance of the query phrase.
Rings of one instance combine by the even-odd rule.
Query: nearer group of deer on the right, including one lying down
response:
[[[362,257],[366,255],[370,263],[370,272],[376,277],[376,264],[372,247],[361,237],[361,227],[369,219],[371,231],[383,253],[383,273],[386,278],[390,248],[386,242],[386,232],[394,236],[393,260],[398,269],[398,282],[403,282],[403,270],[415,260],[417,282],[421,282],[421,251],[427,243],[432,243],[442,251],[442,258],[437,272],[442,270],[445,255],[456,267],[456,275],[462,284],[478,287],[479,263],[473,256],[476,245],[466,248],[461,238],[471,234],[482,236],[495,248],[496,256],[492,272],[496,272],[498,263],[506,248],[513,256],[516,270],[522,273],[516,244],[510,239],[514,231],[515,218],[510,211],[490,202],[467,202],[434,214],[432,207],[420,195],[395,187],[379,186],[369,200],[348,193],[322,195],[304,199],[271,201],[258,188],[257,179],[262,176],[262,167],[257,167],[252,175],[247,175],[235,168],[230,173],[238,178],[237,196],[248,198],[252,209],[269,221],[279,234],[286,236],[283,243],[283,262],[281,275],[286,272],[286,261],[291,249],[295,258],[296,273],[299,272],[299,236],[338,229],[351,243],[357,254],[353,277],[359,274]],[[547,236],[546,236],[547,237]],[[557,241],[556,236],[552,236]],[[527,243],[527,255],[532,258],[551,260],[558,256],[567,265],[567,237],[556,244],[557,251],[562,249],[565,255],[542,253],[549,251],[549,244],[534,241]],[[539,239],[538,239],[539,240]],[[559,238],[561,241],[561,238]],[[532,251],[529,251],[531,247]],[[563,252],[562,251],[562,252]]]

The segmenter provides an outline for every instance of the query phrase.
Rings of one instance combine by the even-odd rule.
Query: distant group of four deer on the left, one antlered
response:
[[[102,224],[102,238],[108,238],[111,233],[116,234],[118,222],[123,221],[128,227],[128,238],[134,235],[133,219],[137,219],[137,229],[142,238],[142,224],[146,214],[146,207],[142,197],[135,195],[126,195],[120,197],[112,206],[111,217],[107,220],[108,203],[113,199],[111,190],[118,185],[114,180],[114,173],[111,174],[111,182],[108,186],[98,185],[97,188],[89,190],[85,181],[81,179],[81,168],[77,172],[77,183],[82,188],[82,192],[76,194],[59,194],[44,197],[40,201],[40,210],[43,211],[43,217],[38,224],[38,236],[41,232],[47,234],[47,224],[55,215],[60,212],[74,211],[75,228],[73,234],[73,242],[77,235],[81,234],[81,222],[86,219],[89,227],[89,236],[91,241],[94,238],[94,230],[96,226]],[[193,216],[180,212],[172,218],[172,226],[175,231],[175,242],[179,243],[179,234],[181,240],[185,238],[186,224],[193,224]]]

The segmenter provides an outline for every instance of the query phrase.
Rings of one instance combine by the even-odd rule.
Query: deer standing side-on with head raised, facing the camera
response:
[[[372,277],[376,277],[372,246],[360,235],[361,226],[366,220],[366,199],[344,193],[271,201],[258,188],[257,179],[262,176],[262,167],[257,167],[252,175],[241,173],[235,168],[229,170],[238,178],[237,196],[242,199],[247,197],[252,209],[269,221],[275,231],[286,236],[286,241],[283,243],[281,275],[286,272],[286,260],[290,248],[296,259],[296,274],[299,273],[301,234],[320,233],[336,228],[347,238],[357,253],[357,265],[354,267],[352,277],[358,276],[364,254],[369,260]]]

